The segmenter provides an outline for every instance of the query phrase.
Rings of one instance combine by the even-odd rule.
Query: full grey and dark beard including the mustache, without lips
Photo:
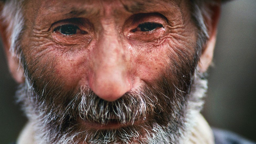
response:
[[[28,78],[21,84],[18,101],[30,121],[35,124],[35,139],[45,143],[180,143],[195,126],[207,89],[207,81],[194,74],[189,94],[175,91],[170,99],[166,92],[143,87],[125,94],[115,102],[98,98],[88,88],[65,96],[60,104],[55,98],[41,99]],[[178,90],[178,89],[177,89]],[[57,97],[57,96],[56,96]],[[131,125],[111,130],[86,129],[77,120],[108,124],[111,118],[119,124]],[[144,120],[141,125],[134,122]]]

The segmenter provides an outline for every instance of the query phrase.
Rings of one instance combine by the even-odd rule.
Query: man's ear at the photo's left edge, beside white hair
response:
[[[4,3],[0,2],[0,11],[1,14],[3,13],[3,7]],[[13,28],[8,28],[10,24],[10,19],[7,19],[1,15],[0,17],[0,34],[2,38],[2,43],[4,47],[4,51],[6,54],[7,63],[9,66],[9,71],[12,74],[13,78],[17,83],[23,83],[25,81],[24,79],[24,72],[22,70],[22,67],[19,66],[19,58],[15,54],[13,54],[11,49],[11,34]]]

